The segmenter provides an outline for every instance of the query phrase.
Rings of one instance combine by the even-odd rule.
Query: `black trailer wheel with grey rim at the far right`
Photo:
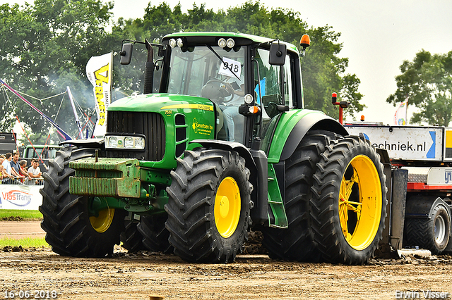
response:
[[[430,218],[407,218],[405,220],[405,246],[420,246],[432,254],[441,254],[449,242],[451,220],[446,207],[437,204]]]

